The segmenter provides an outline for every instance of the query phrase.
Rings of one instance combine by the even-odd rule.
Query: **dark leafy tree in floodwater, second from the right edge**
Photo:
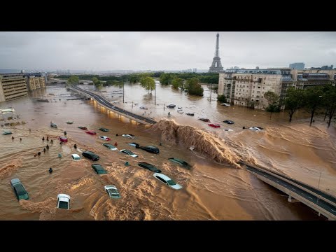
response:
[[[323,87],[316,86],[304,90],[304,107],[310,113],[310,125],[313,123],[314,114],[323,106]]]

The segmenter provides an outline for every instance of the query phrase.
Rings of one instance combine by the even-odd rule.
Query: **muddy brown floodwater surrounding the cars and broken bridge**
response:
[[[94,89],[92,85],[82,87]],[[1,129],[11,130],[15,137],[12,140],[12,135],[0,136],[1,220],[321,219],[303,204],[288,202],[286,195],[245,169],[237,169],[234,164],[238,159],[274,169],[336,195],[336,130],[328,129],[323,118],[316,117],[311,127],[309,115],[304,111],[297,113],[292,123],[287,123],[286,113],[274,113],[270,120],[265,111],[221,106],[214,93],[210,101],[207,87],[204,87],[204,97],[193,97],[157,85],[156,105],[154,90],[152,95],[148,94],[138,84],[125,85],[125,103],[123,87],[103,87],[99,92],[116,106],[158,121],[172,122],[161,121],[161,131],[158,131],[109,113],[94,101],[66,100],[75,97],[64,85],[48,86],[45,90],[35,90],[29,97],[1,103],[1,109],[13,106],[19,120],[27,123]],[[37,98],[51,102],[37,102]],[[176,109],[164,110],[164,104],[182,106],[185,113],[194,112],[195,116],[177,113]],[[139,109],[141,105],[148,109]],[[197,120],[198,117],[207,117],[221,128],[211,128]],[[235,125],[226,125],[225,119],[234,120]],[[69,120],[73,121],[72,125],[66,124]],[[50,121],[57,123],[58,129],[51,128]],[[3,123],[6,122],[1,121],[0,125]],[[176,124],[182,125],[179,139],[169,133]],[[97,135],[86,134],[78,126],[86,126]],[[266,131],[242,130],[243,126],[265,127]],[[101,132],[99,127],[110,131]],[[224,128],[233,131],[225,132]],[[64,135],[64,130],[69,142],[61,145],[57,138]],[[127,139],[121,134],[134,134],[137,138]],[[111,144],[117,142],[119,150],[130,149],[139,158],[110,151],[102,146],[104,141],[98,135],[111,137]],[[43,136],[53,139],[53,144],[43,142]],[[132,141],[141,146],[158,146],[160,155],[127,145]],[[50,148],[43,153],[46,144]],[[73,144],[78,148],[74,149]],[[191,145],[202,151],[190,151]],[[99,162],[83,157],[78,162],[71,160],[71,154],[80,155],[86,150],[97,153]],[[41,156],[34,157],[38,151]],[[62,153],[62,158],[57,157],[58,153]],[[169,162],[168,158],[172,157],[186,160],[193,168],[187,170]],[[125,166],[126,161],[130,166]],[[155,165],[183,189],[164,185],[153,177],[153,172],[139,167],[137,161]],[[105,167],[108,174],[95,174],[92,163]],[[48,172],[50,167],[52,174]],[[27,188],[29,200],[16,200],[9,184],[14,178],[19,178]],[[117,186],[121,199],[109,198],[104,192],[106,185]],[[71,196],[69,211],[56,209],[59,193]]]

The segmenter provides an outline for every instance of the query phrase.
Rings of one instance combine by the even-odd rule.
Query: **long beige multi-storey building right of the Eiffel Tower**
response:
[[[267,91],[278,94],[282,104],[289,87],[305,89],[328,84],[336,85],[336,69],[227,69],[219,73],[218,94],[225,95],[230,104],[265,109],[268,104],[263,94]]]

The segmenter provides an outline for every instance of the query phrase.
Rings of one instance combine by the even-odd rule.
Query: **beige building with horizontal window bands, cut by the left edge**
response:
[[[0,74],[0,102],[27,96],[27,85],[23,74]]]

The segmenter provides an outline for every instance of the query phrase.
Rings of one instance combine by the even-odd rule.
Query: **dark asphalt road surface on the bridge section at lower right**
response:
[[[332,206],[331,204],[329,204],[328,202],[325,202],[324,200],[321,200],[320,197],[316,197],[315,195],[312,195],[311,193],[308,193],[305,190],[302,190],[301,188],[298,188],[297,186],[294,186],[291,183],[288,183],[286,181],[283,181],[282,179],[279,179],[276,176],[272,176],[271,174],[268,174],[267,172],[262,172],[262,170],[260,169],[256,169],[254,167],[250,167],[248,165],[246,165],[246,169],[250,170],[251,172],[255,172],[256,174],[259,174],[261,176],[264,176],[266,179],[269,179],[271,181],[274,181],[275,183],[279,184],[280,186],[283,186],[285,188],[287,188],[288,190],[292,191],[293,193],[297,193],[298,195],[300,195],[301,197],[304,197],[306,200],[309,200],[310,202],[313,202],[314,204],[318,205],[319,207],[325,209],[326,211],[328,211],[330,214],[332,214],[333,216],[336,217],[336,207]],[[278,175],[278,174],[277,174]],[[284,176],[283,176],[284,177]],[[286,179],[288,179],[287,177],[284,177]],[[289,179],[291,181],[291,179]],[[295,183],[297,183],[299,185],[300,182],[297,181],[293,181]],[[300,184],[300,186],[302,186],[303,184]],[[302,186],[303,187],[303,186]],[[309,186],[305,186],[304,188],[310,188]],[[309,189],[310,190],[310,189]],[[314,191],[314,193],[316,193],[316,189],[311,190]],[[318,194],[319,195],[323,195],[323,193],[321,193],[319,190]],[[329,197],[332,197],[330,195],[328,195]],[[294,196],[293,196],[294,197]],[[295,198],[295,197],[294,197]],[[328,198],[329,200],[329,198]],[[333,198],[333,200],[335,200],[335,198]],[[303,202],[302,202],[303,203]]]

